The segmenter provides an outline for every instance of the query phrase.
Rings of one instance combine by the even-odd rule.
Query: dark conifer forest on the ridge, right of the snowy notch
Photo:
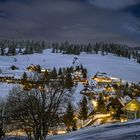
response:
[[[124,44],[96,42],[88,44],[71,44],[65,42],[62,44],[55,43],[52,46],[52,53],[74,54],[80,55],[81,52],[87,54],[99,54],[103,56],[112,53],[119,57],[134,59],[140,63],[140,47],[128,47]]]

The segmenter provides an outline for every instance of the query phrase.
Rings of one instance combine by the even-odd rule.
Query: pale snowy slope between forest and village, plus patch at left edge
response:
[[[73,58],[78,57],[78,63],[82,64],[88,70],[89,77],[96,72],[106,72],[111,76],[122,78],[130,82],[140,81],[140,64],[133,60],[120,58],[109,54],[107,56],[85,54],[80,56],[53,54],[51,50],[45,50],[43,54],[0,56],[0,69],[3,72],[15,73],[17,76],[26,71],[30,64],[39,64],[43,68],[59,68],[72,66]],[[15,58],[17,61],[15,62]],[[20,70],[11,71],[10,66],[16,65]],[[6,94],[12,85],[0,84],[0,95]],[[5,93],[4,93],[5,92]]]

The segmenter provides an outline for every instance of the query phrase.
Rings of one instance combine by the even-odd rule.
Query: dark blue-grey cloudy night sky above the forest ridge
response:
[[[0,38],[140,43],[140,0],[0,0]]]

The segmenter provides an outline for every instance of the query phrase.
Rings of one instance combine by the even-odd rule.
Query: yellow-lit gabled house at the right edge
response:
[[[123,108],[128,119],[140,118],[140,101],[135,98],[128,102]]]

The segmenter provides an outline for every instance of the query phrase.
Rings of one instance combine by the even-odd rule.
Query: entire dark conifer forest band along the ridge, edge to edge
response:
[[[74,44],[68,41],[47,42],[36,40],[0,40],[0,55],[34,54],[43,53],[44,49],[52,49],[52,53],[80,55],[81,52],[95,53],[101,52],[102,55],[112,53],[119,57],[134,59],[140,63],[140,47],[128,47],[125,44],[108,42],[95,42],[88,44]]]

